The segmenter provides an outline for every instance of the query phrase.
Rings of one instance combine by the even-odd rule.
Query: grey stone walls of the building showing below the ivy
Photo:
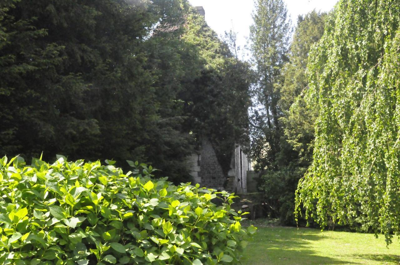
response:
[[[247,171],[251,170],[251,163],[240,145],[235,145],[230,169],[224,175],[218,162],[214,147],[209,140],[203,140],[198,154],[188,158],[191,170],[192,184],[200,184],[207,188],[226,190],[243,194],[247,192]]]

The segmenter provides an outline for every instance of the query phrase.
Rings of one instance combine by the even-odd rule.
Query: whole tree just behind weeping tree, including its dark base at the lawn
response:
[[[312,11],[299,16],[293,41],[288,53],[289,61],[282,69],[282,85],[278,105],[283,114],[280,122],[285,135],[280,140],[280,152],[275,169],[264,171],[260,190],[264,193],[264,202],[268,204],[270,216],[279,217],[281,223],[294,225],[294,193],[298,180],[309,166],[312,146],[313,116],[305,105],[301,95],[307,87],[306,66],[311,46],[324,32],[324,16]],[[291,107],[290,107],[291,106]],[[290,108],[290,111],[289,111]],[[306,150],[303,150],[303,142]]]

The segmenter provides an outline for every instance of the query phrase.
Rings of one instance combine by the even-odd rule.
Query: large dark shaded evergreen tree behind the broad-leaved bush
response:
[[[0,152],[144,162],[163,154],[179,160],[160,160],[164,174],[185,174],[176,165],[191,150],[188,133],[163,121],[174,113],[160,106],[175,98],[160,93],[163,73],[148,61],[155,25],[182,18],[182,1],[10,3],[0,27]]]

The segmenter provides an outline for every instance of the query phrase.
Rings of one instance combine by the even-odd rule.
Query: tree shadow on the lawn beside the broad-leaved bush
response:
[[[334,265],[356,264],[317,255],[309,245],[324,238],[315,229],[294,227],[260,229],[244,254],[244,265]]]

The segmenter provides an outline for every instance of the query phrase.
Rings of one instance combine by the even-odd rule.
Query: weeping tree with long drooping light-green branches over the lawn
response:
[[[400,235],[400,1],[340,0],[310,53],[314,160],[296,214]]]

